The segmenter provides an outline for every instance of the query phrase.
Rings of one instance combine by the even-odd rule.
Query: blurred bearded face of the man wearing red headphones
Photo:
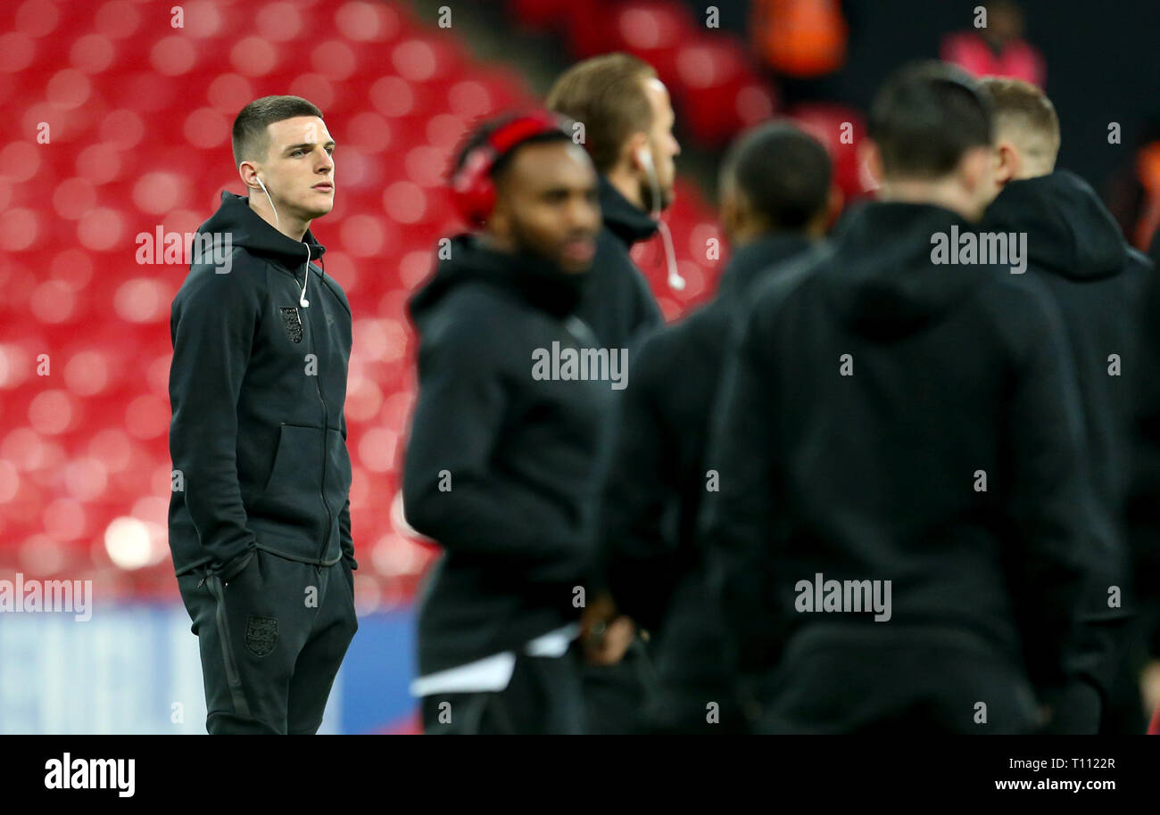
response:
[[[581,147],[546,141],[517,148],[490,221],[498,237],[579,274],[592,265],[600,223],[596,172]]]

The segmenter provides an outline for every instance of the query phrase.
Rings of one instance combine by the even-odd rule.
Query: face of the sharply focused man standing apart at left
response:
[[[259,173],[278,212],[306,221],[329,212],[334,208],[334,139],[322,119],[297,116],[266,130],[270,146]]]

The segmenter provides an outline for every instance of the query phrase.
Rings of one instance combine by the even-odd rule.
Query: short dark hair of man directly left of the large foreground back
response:
[[[826,209],[832,173],[821,143],[781,121],[738,137],[725,153],[720,177],[735,183],[770,227],[799,230]]]

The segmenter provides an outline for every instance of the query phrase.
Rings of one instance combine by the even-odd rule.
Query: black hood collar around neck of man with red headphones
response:
[[[499,252],[473,234],[451,239],[450,257],[411,298],[413,319],[429,312],[458,285],[481,282],[507,291],[557,318],[571,314],[583,294],[587,274],[570,274],[554,263],[525,253]]]

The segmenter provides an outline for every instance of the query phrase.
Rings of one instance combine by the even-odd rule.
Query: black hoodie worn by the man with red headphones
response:
[[[538,379],[537,349],[596,348],[572,312],[583,275],[471,235],[411,300],[419,398],[407,521],[443,556],[419,610],[419,672],[517,648],[573,623],[592,589],[609,381]]]

